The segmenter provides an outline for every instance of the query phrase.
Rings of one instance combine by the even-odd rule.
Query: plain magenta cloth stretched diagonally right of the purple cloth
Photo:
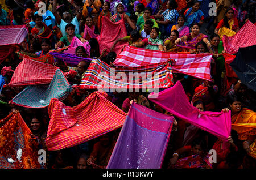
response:
[[[227,142],[231,132],[230,111],[228,113],[200,112],[189,103],[180,82],[148,98],[175,116]]]

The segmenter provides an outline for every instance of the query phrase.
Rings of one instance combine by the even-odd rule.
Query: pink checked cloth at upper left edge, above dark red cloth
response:
[[[26,25],[4,25],[0,26],[0,46],[20,44],[28,34]]]

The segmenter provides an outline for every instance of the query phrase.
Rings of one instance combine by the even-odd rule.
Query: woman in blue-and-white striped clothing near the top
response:
[[[162,14],[153,15],[156,20],[156,23],[159,24],[159,28],[161,29],[162,36],[170,36],[172,25],[177,23],[177,17],[179,13],[176,10],[177,3],[175,0],[169,0],[166,3],[166,10]]]

